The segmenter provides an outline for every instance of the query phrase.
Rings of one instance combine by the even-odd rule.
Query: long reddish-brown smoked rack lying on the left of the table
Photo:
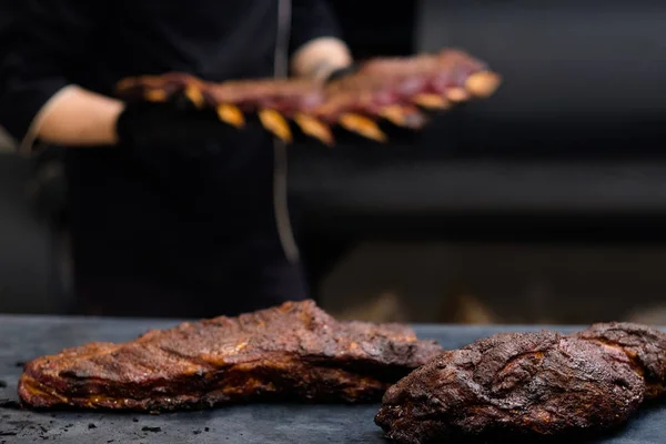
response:
[[[379,402],[442,350],[398,324],[337,322],[312,301],[185,322],[29,362],[33,408],[172,411],[252,401]]]

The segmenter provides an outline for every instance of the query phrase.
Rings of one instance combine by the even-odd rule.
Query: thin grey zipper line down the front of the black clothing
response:
[[[275,43],[274,77],[289,75],[289,42],[291,39],[291,0],[278,0],[278,39]],[[291,263],[299,261],[300,252],[294,239],[287,203],[287,157],[284,142],[273,139],[274,168],[273,168],[273,209],[280,243],[286,259]]]

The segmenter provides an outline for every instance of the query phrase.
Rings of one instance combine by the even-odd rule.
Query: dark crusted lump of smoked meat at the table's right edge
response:
[[[375,423],[394,443],[564,442],[620,427],[665,390],[666,334],[656,329],[501,333],[401,380]]]

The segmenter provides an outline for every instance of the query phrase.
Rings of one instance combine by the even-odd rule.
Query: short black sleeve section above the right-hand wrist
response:
[[[320,37],[342,39],[330,0],[292,0],[290,53]]]

